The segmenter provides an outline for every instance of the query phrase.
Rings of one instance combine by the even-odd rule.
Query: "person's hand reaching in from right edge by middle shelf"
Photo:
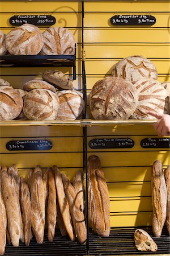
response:
[[[160,137],[170,135],[170,115],[158,114],[152,111],[147,111],[146,113],[158,119],[158,121],[154,124],[154,128]]]

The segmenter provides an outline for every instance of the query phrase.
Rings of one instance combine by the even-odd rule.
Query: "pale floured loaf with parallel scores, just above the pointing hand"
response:
[[[155,117],[146,114],[146,110],[152,110],[159,114],[168,111],[165,106],[167,92],[159,81],[143,78],[135,82],[134,86],[137,89],[139,100],[137,109],[130,117],[131,119],[155,119]]]

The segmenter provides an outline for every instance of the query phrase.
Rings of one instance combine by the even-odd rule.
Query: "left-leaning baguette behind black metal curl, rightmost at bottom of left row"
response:
[[[80,243],[84,243],[87,240],[87,230],[84,213],[82,211],[82,201],[80,201],[79,198],[76,197],[75,188],[73,187],[73,185],[71,185],[67,176],[65,174],[61,174],[61,176],[67,201],[70,207],[75,234],[78,237],[78,241]]]

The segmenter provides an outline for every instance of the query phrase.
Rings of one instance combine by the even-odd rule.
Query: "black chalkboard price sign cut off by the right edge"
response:
[[[143,148],[170,148],[170,138],[146,138],[142,139]]]

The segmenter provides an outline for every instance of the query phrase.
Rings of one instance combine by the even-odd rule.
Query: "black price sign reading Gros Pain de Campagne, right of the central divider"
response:
[[[90,148],[131,148],[134,141],[129,138],[91,139],[88,145]]]

